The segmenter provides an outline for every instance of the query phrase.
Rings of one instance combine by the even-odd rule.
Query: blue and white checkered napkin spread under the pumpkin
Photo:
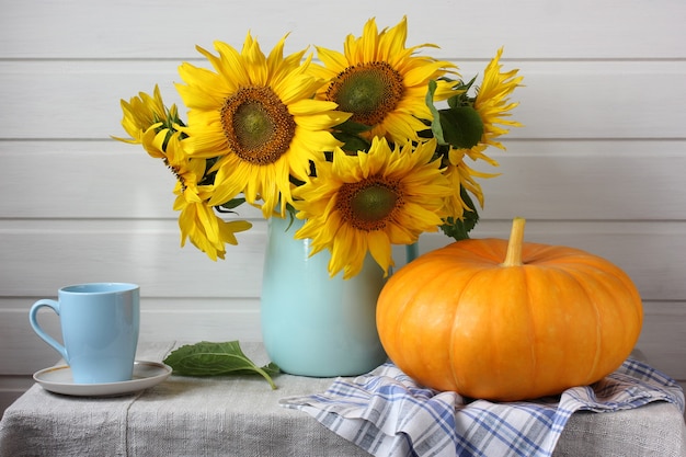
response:
[[[375,456],[550,456],[574,411],[596,412],[668,401],[684,411],[670,377],[633,359],[559,397],[493,403],[423,388],[392,363],[357,378],[336,378],[321,395],[281,400]]]

